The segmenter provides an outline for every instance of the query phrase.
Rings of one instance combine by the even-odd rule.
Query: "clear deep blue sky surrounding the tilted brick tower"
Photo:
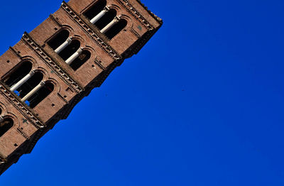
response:
[[[0,53],[61,1],[2,1]],[[164,25],[2,186],[284,185],[284,1],[143,0]]]

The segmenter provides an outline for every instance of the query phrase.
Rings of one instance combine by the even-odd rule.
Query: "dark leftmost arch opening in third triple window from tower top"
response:
[[[13,84],[16,84],[21,79],[23,79],[23,77],[28,75],[28,73],[31,72],[32,67],[33,65],[31,64],[31,62],[28,61],[22,62],[21,65],[16,67],[16,70],[11,72],[11,75],[9,75],[9,77],[6,77],[6,80],[4,80],[4,82],[9,87],[12,87]]]

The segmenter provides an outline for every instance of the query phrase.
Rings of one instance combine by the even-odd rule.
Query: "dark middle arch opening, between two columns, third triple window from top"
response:
[[[35,72],[33,77],[31,77],[27,82],[25,82],[21,87],[16,89],[15,93],[18,97],[25,97],[28,92],[31,92],[38,84],[43,80],[43,74],[40,72]]]

